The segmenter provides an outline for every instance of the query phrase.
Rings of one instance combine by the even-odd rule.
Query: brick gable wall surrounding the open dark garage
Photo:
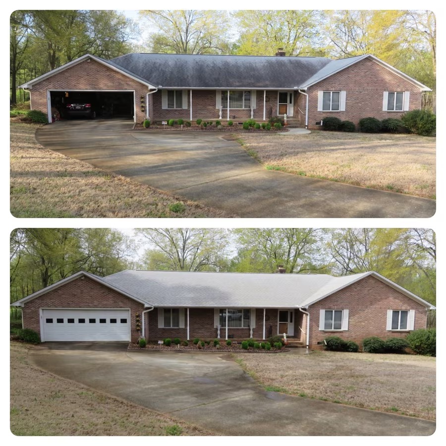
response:
[[[147,86],[93,59],[90,62],[80,62],[34,85],[30,90],[33,110],[47,113],[48,90],[135,90],[136,122],[145,119]],[[141,106],[141,96],[144,108]]]

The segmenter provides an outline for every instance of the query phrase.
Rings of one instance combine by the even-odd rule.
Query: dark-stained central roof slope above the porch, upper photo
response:
[[[163,88],[293,89],[331,62],[326,57],[126,54],[109,63]]]

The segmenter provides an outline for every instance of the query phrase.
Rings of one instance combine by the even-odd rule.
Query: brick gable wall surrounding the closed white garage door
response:
[[[130,308],[133,341],[140,335],[135,327],[136,313],[141,314],[144,309],[142,304],[87,277],[72,280],[25,304],[23,327],[39,335],[41,308]]]

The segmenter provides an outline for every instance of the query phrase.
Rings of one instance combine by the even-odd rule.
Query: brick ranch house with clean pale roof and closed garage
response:
[[[375,273],[80,272],[12,304],[42,341],[265,339],[285,333],[318,348],[338,335],[404,336],[435,309]]]

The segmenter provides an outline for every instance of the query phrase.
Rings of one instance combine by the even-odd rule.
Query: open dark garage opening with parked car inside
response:
[[[134,120],[133,91],[51,91],[53,120],[131,119]]]

